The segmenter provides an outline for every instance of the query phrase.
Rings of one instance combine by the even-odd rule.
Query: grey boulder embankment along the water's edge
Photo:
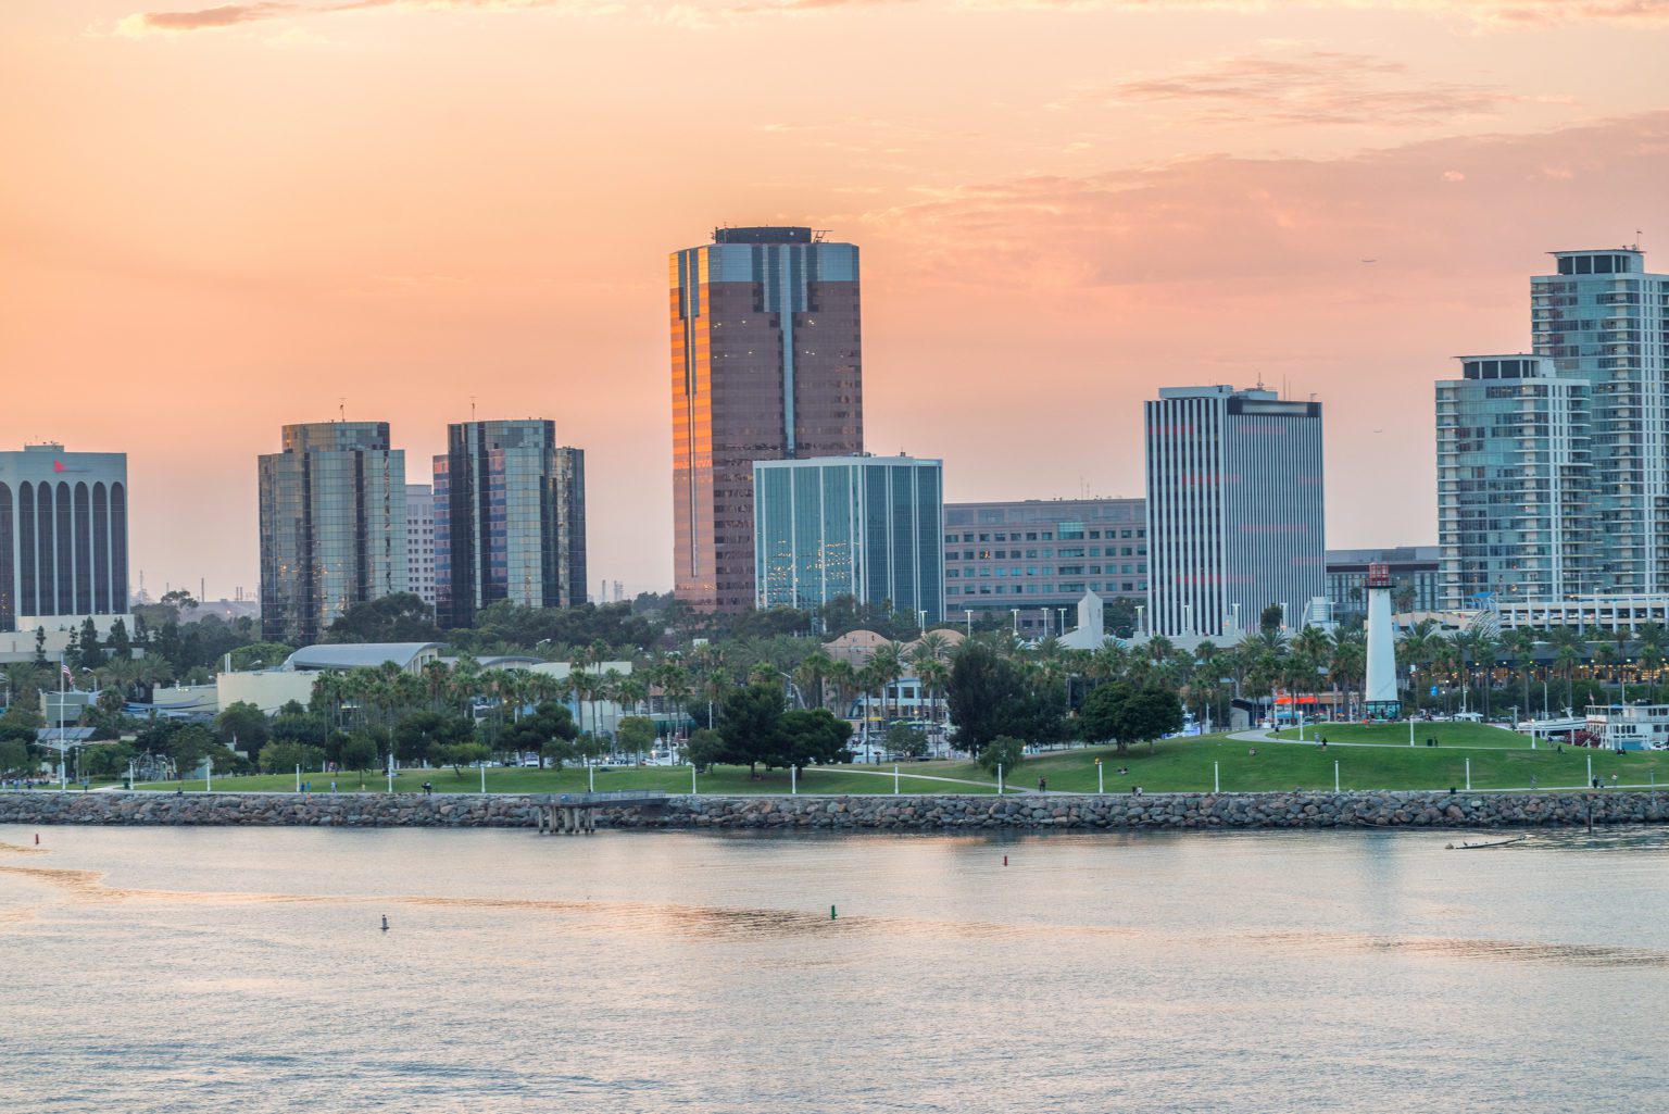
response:
[[[3,792],[0,823],[117,827],[527,828],[551,795]],[[1669,822],[1657,790],[990,795],[671,795],[601,805],[614,830],[1504,828]]]

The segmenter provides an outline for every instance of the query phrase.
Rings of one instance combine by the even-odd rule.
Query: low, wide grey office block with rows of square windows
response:
[[[1142,499],[1023,499],[945,508],[945,618],[1015,615],[1021,635],[1063,635],[1095,593],[1147,603]]]

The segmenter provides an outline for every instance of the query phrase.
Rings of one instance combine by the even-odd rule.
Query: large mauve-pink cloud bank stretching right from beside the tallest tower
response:
[[[1355,289],[1360,257],[1454,282],[1504,246],[1621,242],[1662,212],[1669,112],[1345,159],[1212,155],[1088,175],[920,187],[856,217],[923,281],[1237,301]],[[1576,202],[1574,199],[1586,200]],[[848,222],[850,224],[850,222]],[[1616,225],[1616,227],[1612,227]],[[856,235],[855,235],[856,239]],[[1210,294],[1202,291],[1210,287]]]

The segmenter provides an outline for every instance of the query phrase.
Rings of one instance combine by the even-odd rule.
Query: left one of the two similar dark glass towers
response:
[[[262,638],[307,646],[352,605],[407,590],[406,453],[389,423],[284,426],[259,474]]]

